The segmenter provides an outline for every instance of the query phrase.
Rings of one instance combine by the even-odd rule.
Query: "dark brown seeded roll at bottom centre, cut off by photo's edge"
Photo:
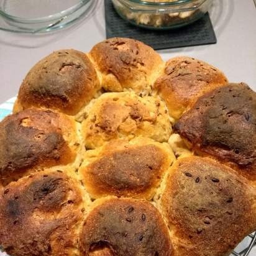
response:
[[[108,199],[96,206],[86,218],[80,244],[85,256],[102,255],[106,248],[112,256],[173,255],[158,210],[148,201],[135,199]]]

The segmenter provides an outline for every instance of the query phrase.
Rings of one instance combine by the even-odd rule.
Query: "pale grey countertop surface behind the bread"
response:
[[[159,51],[164,60],[190,55],[224,71],[229,81],[248,83],[256,90],[256,8],[253,0],[214,0],[210,12],[217,43]],[[0,103],[16,95],[27,71],[53,50],[88,52],[104,40],[104,1],[80,24],[52,35],[34,37],[0,31]],[[0,252],[0,255],[1,254]],[[256,249],[250,256],[256,255]]]

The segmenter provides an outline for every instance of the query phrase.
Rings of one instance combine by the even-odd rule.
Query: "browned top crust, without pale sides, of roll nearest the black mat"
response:
[[[124,88],[133,82],[147,81],[147,76],[162,63],[151,47],[134,39],[115,37],[96,44],[89,53],[104,74],[114,75]]]

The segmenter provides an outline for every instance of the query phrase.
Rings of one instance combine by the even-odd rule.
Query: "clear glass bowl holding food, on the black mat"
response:
[[[118,14],[139,27],[174,29],[201,18],[212,0],[112,0]]]

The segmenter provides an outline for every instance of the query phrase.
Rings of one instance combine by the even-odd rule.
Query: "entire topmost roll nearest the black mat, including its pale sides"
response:
[[[131,88],[136,93],[147,93],[163,68],[160,55],[134,39],[107,39],[96,44],[89,55],[98,66],[107,91]]]

